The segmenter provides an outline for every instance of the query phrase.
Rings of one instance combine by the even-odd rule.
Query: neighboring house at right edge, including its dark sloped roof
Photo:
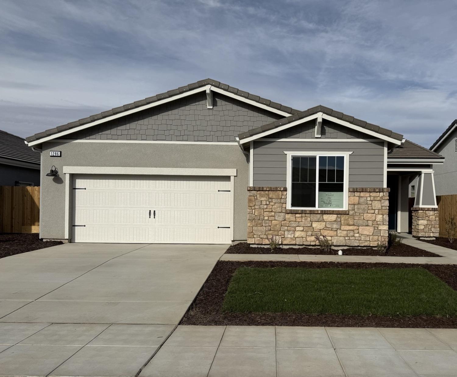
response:
[[[446,164],[435,167],[436,195],[457,194],[457,119],[430,147],[446,158]]]

